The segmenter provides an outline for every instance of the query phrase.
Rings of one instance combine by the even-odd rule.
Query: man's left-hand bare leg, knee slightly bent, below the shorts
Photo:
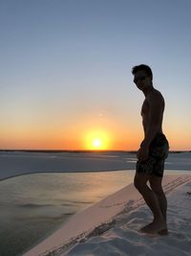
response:
[[[154,221],[144,226],[141,231],[147,233],[159,233],[160,230],[166,228],[166,222],[164,221],[162,212],[160,210],[159,200],[156,194],[147,186],[147,181],[150,179],[150,177],[150,175],[136,173],[134,179],[135,187],[144,198],[154,216]]]

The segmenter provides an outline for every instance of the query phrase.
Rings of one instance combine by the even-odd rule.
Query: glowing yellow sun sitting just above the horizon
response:
[[[109,148],[109,135],[103,131],[92,131],[86,134],[86,149],[105,151]]]

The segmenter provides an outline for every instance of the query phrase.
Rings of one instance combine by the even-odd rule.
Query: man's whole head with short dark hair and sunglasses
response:
[[[145,90],[148,86],[153,86],[153,73],[149,66],[141,64],[132,68],[132,74],[134,75],[134,82],[138,86],[138,89]]]

